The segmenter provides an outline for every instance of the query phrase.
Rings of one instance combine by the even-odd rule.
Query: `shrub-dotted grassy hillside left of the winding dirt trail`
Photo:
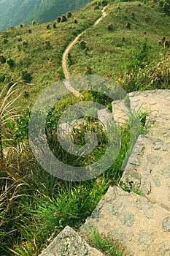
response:
[[[0,55],[7,60],[12,58],[15,65],[9,67],[7,61],[3,64],[0,62],[0,88],[9,81],[23,80],[23,72],[30,74],[31,84],[20,84],[20,91],[24,94],[18,105],[24,105],[26,108],[31,106],[40,91],[63,78],[61,59],[66,45],[80,31],[90,27],[100,15],[101,10],[93,12],[93,5],[88,4],[80,12],[74,12],[74,15],[63,23],[53,20],[50,23],[17,26],[2,31]],[[77,20],[76,24],[74,20]]]

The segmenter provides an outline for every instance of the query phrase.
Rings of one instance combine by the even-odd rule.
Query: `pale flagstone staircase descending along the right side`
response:
[[[97,230],[110,236],[125,246],[126,255],[170,256],[170,91],[141,91],[129,96],[132,109],[148,113],[146,132],[136,141],[121,186],[108,189],[80,233]],[[142,195],[122,189],[130,184]],[[61,240],[66,248],[67,240]],[[91,255],[87,250],[53,252],[51,256]]]

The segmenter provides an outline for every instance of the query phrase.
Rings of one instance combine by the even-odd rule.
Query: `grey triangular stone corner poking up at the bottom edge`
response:
[[[66,226],[39,256],[104,256]]]

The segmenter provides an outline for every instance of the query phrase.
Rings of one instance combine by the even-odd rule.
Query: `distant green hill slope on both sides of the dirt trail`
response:
[[[166,81],[170,79],[168,65],[162,63],[161,77],[158,71],[157,78],[155,70],[161,58],[169,52],[168,47],[158,44],[158,40],[163,37],[169,42],[169,17],[139,1],[110,1],[106,8],[107,16],[94,27],[93,24],[101,16],[102,8],[100,5],[96,10],[94,2],[91,2],[79,12],[73,13],[72,17],[63,23],[54,20],[46,24],[18,26],[2,31],[0,56],[7,60],[12,58],[15,66],[9,67],[7,61],[1,63],[0,60],[0,89],[9,81],[24,79],[24,72],[31,73],[32,85],[20,87],[25,94],[18,101],[18,105],[31,107],[40,91],[63,78],[63,51],[81,31],[85,32],[70,50],[71,59],[67,58],[70,75],[106,76],[120,82],[120,86],[125,84],[128,91],[134,91],[139,75],[142,75],[144,85],[147,83],[146,78],[150,78],[152,82],[154,73],[159,83],[159,86],[158,83],[155,84],[155,88],[168,88],[168,85],[163,84],[164,78]],[[131,15],[133,12],[134,17]],[[77,20],[76,24],[74,20]],[[131,29],[125,28],[127,21],[131,23]],[[31,33],[28,33],[28,30],[31,30]],[[85,48],[80,45],[81,41],[85,42]],[[155,61],[153,68],[152,61]],[[146,69],[153,69],[151,74],[148,74],[149,69],[145,70],[147,75],[142,74],[144,66]],[[136,71],[133,71],[134,67]],[[141,74],[138,74],[138,70]]]

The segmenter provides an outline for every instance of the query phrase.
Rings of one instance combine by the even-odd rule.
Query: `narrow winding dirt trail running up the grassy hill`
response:
[[[101,20],[103,20],[104,17],[107,16],[107,13],[105,12],[107,6],[105,6],[102,10],[102,15],[100,18],[98,18],[98,20],[96,20],[96,23],[94,23],[93,26],[98,25],[99,22],[101,22]],[[80,37],[82,36],[82,34],[86,31],[86,29],[84,31],[82,31],[82,33],[80,33],[72,42],[70,42],[70,44],[67,46],[66,50],[64,50],[63,53],[63,57],[62,57],[62,68],[63,68],[63,74],[65,76],[65,78],[69,78],[69,69],[67,67],[66,64],[66,57],[69,53],[69,51],[72,49],[72,47],[75,45],[75,43],[78,41],[78,39],[80,39]],[[65,83],[66,89],[68,89],[69,91],[73,92],[74,94],[78,95],[78,96],[82,96],[82,94],[80,94],[78,91],[76,91],[72,85],[69,83],[69,81],[66,81]]]

